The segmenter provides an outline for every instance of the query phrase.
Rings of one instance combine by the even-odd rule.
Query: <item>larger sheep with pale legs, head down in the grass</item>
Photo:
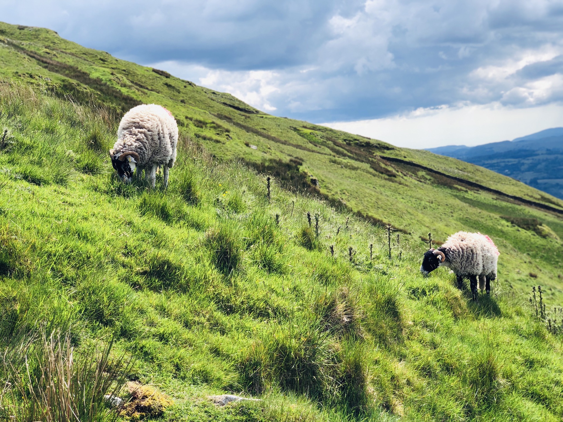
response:
[[[157,104],[133,107],[121,119],[118,140],[109,151],[111,165],[124,183],[130,183],[137,169],[154,187],[157,167],[163,169],[164,187],[168,185],[168,168],[176,161],[178,125],[167,109]]]

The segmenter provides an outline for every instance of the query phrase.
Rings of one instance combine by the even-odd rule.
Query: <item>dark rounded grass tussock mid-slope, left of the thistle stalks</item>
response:
[[[205,246],[213,257],[213,263],[221,272],[230,274],[242,265],[243,244],[240,229],[233,221],[222,222],[208,230]]]

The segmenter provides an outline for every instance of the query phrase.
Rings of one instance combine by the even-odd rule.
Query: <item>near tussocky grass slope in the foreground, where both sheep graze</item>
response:
[[[420,275],[417,235],[389,242],[385,229],[275,179],[269,200],[264,176],[212,159],[185,134],[169,190],[123,185],[105,152],[117,122],[0,84],[2,356],[21,327],[70,327],[77,356],[114,338],[114,353],[137,359],[128,378],[172,398],[161,420],[563,416],[562,315],[549,299],[551,322],[503,283],[473,303],[448,272]],[[473,218],[493,230],[487,213]],[[41,375],[35,352],[27,367]],[[4,357],[0,379],[10,370]],[[17,388],[38,388],[21,371],[21,385],[0,390],[2,420],[39,420],[10,417],[25,407]],[[217,407],[207,396],[220,393],[262,401]]]

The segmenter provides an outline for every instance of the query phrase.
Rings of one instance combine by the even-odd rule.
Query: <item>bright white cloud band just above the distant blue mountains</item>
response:
[[[417,109],[407,114],[357,122],[324,123],[340,129],[415,149],[444,145],[474,146],[512,140],[563,125],[563,104],[511,108],[499,103],[461,104]]]

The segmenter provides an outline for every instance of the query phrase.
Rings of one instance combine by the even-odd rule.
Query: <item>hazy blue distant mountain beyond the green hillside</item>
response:
[[[563,199],[563,128],[512,141],[473,147],[448,145],[428,151],[481,165]]]

